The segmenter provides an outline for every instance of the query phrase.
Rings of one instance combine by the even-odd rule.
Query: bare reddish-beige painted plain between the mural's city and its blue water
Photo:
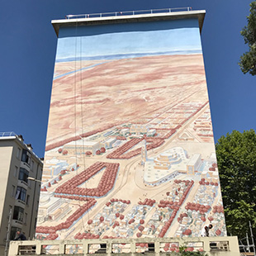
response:
[[[57,63],[55,72],[91,64]],[[206,93],[202,55],[117,59],[71,73],[53,83],[46,146],[104,126],[145,123],[153,111],[177,105],[181,94],[200,101]]]

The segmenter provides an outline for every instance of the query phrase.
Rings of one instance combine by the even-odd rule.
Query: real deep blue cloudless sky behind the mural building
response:
[[[246,51],[239,31],[249,0],[9,0],[0,3],[0,131],[15,131],[44,156],[57,37],[51,20],[68,14],[168,7],[206,10],[201,45],[215,140],[232,130],[256,128],[256,77],[238,66]]]

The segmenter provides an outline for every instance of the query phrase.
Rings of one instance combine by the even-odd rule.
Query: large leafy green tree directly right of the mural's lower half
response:
[[[216,143],[225,221],[229,235],[244,238],[256,224],[256,135],[254,130],[221,136]]]

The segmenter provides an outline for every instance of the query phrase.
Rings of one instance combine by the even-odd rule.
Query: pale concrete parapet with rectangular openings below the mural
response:
[[[83,240],[33,240],[12,241],[8,256],[16,255],[108,255],[149,256],[178,255],[189,252],[205,252],[209,256],[239,256],[236,236],[163,238],[163,239],[83,239]]]

